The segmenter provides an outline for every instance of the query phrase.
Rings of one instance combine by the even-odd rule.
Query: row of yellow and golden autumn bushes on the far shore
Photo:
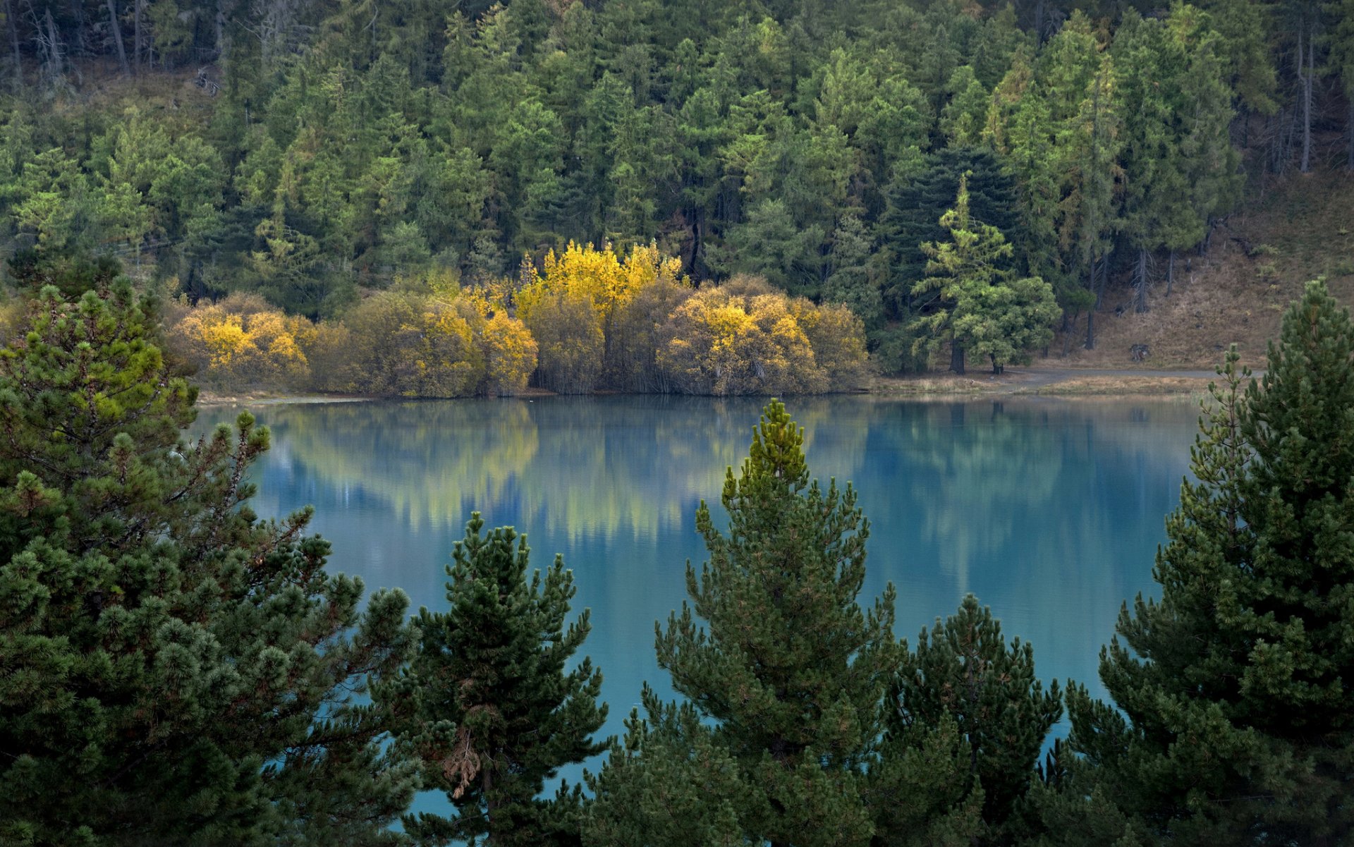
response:
[[[737,276],[696,290],[657,246],[624,257],[570,244],[516,280],[398,279],[341,318],[286,315],[256,295],[183,306],[177,352],[218,388],[372,396],[500,396],[528,382],[682,394],[816,394],[867,376],[865,334],[845,306],[816,306]]]

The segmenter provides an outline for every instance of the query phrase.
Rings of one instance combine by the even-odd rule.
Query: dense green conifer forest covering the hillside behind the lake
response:
[[[654,242],[696,281],[846,304],[876,363],[918,368],[959,337],[967,295],[936,265],[967,175],[983,291],[1044,280],[1091,346],[1108,285],[1143,310],[1275,175],[1354,166],[1354,0],[3,14],[0,254],[111,253],[191,302],[310,318]]]

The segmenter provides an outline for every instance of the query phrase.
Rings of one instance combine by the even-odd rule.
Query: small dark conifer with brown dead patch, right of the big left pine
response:
[[[588,637],[588,612],[565,628],[573,571],[556,556],[528,582],[527,537],[510,526],[482,534],[483,525],[474,513],[456,541],[450,609],[420,609],[408,672],[378,690],[424,786],[445,792],[458,812],[406,816],[405,829],[428,844],[577,843],[580,787],[538,796],[562,766],[607,748],[592,739],[607,718],[601,672],[586,658],[565,670]]]

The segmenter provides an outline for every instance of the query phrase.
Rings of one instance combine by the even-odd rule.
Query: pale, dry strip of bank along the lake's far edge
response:
[[[1216,379],[1213,371],[1147,371],[1108,368],[1010,368],[1005,373],[965,373],[963,376],[918,375],[879,376],[869,388],[844,394],[906,398],[918,400],[967,399],[980,396],[1043,396],[1059,399],[1118,399],[1198,396]],[[615,392],[600,392],[615,394]],[[544,388],[528,388],[517,398],[558,396]],[[198,405],[209,406],[280,406],[307,403],[367,403],[382,399],[352,394],[278,394],[272,391],[207,391],[198,395]],[[424,399],[424,398],[403,398]],[[431,399],[431,398],[429,398]]]

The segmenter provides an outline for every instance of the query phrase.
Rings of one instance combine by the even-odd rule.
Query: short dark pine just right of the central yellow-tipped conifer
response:
[[[1034,677],[1034,651],[1006,644],[1001,622],[972,594],[959,613],[922,629],[900,662],[890,716],[906,741],[918,729],[952,718],[963,733],[957,782],[979,790],[980,843],[1009,844],[1024,835],[1025,796],[1049,728],[1063,713],[1055,682],[1045,693]]]

